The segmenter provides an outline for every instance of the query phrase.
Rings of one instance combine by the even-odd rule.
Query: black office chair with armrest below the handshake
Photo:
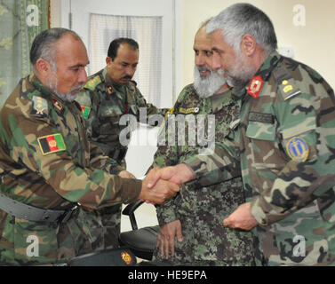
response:
[[[134,212],[142,203],[143,201],[135,201],[122,211],[122,214],[130,218],[132,231],[120,233],[119,242],[121,247],[131,248],[135,256],[151,260],[156,247],[159,225],[138,228]]]

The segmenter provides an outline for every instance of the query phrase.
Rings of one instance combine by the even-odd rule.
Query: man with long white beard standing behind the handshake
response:
[[[174,146],[170,146],[170,124],[174,122],[169,115],[162,127],[164,141],[158,146],[154,167],[184,162],[201,153],[203,146],[211,147],[206,144],[224,141],[228,125],[234,119],[232,92],[223,75],[211,71],[211,38],[206,34],[206,23],[195,34],[195,83],[180,92],[171,110],[176,121],[178,117],[185,119],[185,129],[183,123],[176,122]],[[180,128],[185,130],[185,138],[180,136]],[[201,141],[202,131],[207,132],[203,136],[206,141]],[[232,141],[226,143],[234,148]],[[175,198],[156,208],[161,228],[154,261],[174,265],[254,264],[251,233],[222,225],[222,218],[245,202],[239,165],[236,168],[234,177],[216,185],[202,188],[184,185]]]

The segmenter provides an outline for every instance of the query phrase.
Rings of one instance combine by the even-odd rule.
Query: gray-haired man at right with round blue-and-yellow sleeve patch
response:
[[[235,28],[232,28],[235,27]],[[227,72],[241,105],[229,134],[250,196],[224,225],[257,235],[258,264],[333,265],[335,260],[335,99],[314,69],[279,55],[275,30],[250,4],[230,6],[210,21],[213,68]],[[243,70],[238,74],[239,70]],[[232,128],[234,129],[234,128]],[[217,141],[219,142],[219,141]],[[229,169],[227,149],[187,161],[198,173]],[[219,161],[221,158],[221,161]],[[160,176],[195,178],[186,164]],[[201,177],[218,182],[225,174]],[[218,178],[217,178],[218,177]],[[178,180],[179,179],[179,180]],[[209,180],[211,179],[211,180]],[[201,182],[198,180],[198,182]]]

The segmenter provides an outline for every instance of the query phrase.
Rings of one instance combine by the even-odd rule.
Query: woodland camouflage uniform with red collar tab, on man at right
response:
[[[263,252],[259,264],[333,264],[334,92],[315,70],[275,51],[235,97],[242,109],[230,138],[241,159],[251,213],[259,222],[253,230]],[[199,173],[218,171],[216,157],[223,148],[189,165]],[[225,162],[220,164],[227,169]]]

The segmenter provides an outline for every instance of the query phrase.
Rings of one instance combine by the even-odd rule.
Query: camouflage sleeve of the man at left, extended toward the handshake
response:
[[[138,199],[140,180],[111,175],[107,168],[100,170],[91,166],[81,167],[69,154],[71,145],[62,145],[61,141],[57,142],[60,151],[45,154],[41,138],[59,134],[60,131],[55,125],[48,118],[36,118],[21,113],[13,115],[11,111],[7,113],[7,110],[8,107],[2,111],[2,120],[5,121],[2,136],[5,136],[6,144],[11,148],[12,159],[43,177],[45,183],[51,185],[62,198],[79,202],[89,208],[100,208],[116,202],[128,203]],[[8,117],[8,123],[4,117]],[[87,159],[78,157],[85,158]],[[99,155],[92,164],[102,164],[105,159],[105,156]]]

